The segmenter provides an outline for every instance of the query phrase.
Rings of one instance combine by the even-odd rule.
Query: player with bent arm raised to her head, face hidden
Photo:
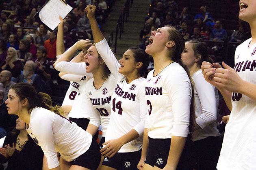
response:
[[[59,57],[59,59],[54,63],[54,67],[56,70],[68,73],[64,76],[66,76],[69,81],[79,82],[79,96],[74,101],[74,104],[68,114],[68,117],[71,121],[74,121],[78,126],[82,127],[82,129],[84,130],[87,129],[87,126],[89,124],[90,112],[84,105],[82,98],[85,95],[85,85],[92,78],[92,74],[86,72],[85,62],[80,61],[82,60],[82,57],[84,57],[85,54],[87,54],[85,48],[88,48],[91,45],[92,43],[88,39],[79,40],[67,51],[65,51],[65,53],[63,53],[61,57]],[[81,51],[80,54],[76,56],[74,60],[72,60],[72,62],[69,62],[71,57],[80,49],[83,49],[83,51]],[[98,133],[94,136],[94,138],[98,138]]]

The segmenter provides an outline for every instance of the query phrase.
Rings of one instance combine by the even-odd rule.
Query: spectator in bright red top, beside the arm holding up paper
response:
[[[49,39],[43,45],[47,50],[48,60],[56,60],[56,34],[56,31],[49,32]]]

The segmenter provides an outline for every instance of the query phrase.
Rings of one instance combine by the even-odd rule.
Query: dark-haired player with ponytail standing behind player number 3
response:
[[[185,43],[181,58],[194,82],[195,130],[192,132],[192,141],[197,162],[195,169],[215,170],[221,149],[217,129],[219,95],[217,88],[205,81],[201,70],[202,62],[213,63],[213,60],[208,57],[207,47],[196,40]]]

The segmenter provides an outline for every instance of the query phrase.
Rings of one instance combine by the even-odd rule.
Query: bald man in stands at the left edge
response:
[[[12,74],[8,70],[3,70],[0,72],[0,89],[4,91],[4,99],[3,101],[7,100],[7,94],[9,89],[15,83],[11,81]]]

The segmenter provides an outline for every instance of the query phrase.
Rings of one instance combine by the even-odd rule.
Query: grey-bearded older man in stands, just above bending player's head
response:
[[[23,72],[17,78],[17,83],[29,83],[33,85],[37,92],[46,92],[46,83],[41,76],[35,74],[36,64],[33,61],[27,61],[24,65]]]

